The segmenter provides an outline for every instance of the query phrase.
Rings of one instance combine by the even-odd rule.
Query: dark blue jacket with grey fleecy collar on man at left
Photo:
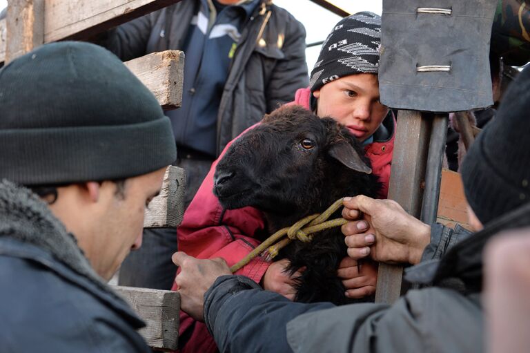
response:
[[[46,204],[0,182],[1,352],[150,352],[143,326]]]

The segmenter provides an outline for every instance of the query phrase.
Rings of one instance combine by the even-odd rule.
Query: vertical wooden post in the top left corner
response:
[[[44,0],[10,0],[6,62],[44,43]]]

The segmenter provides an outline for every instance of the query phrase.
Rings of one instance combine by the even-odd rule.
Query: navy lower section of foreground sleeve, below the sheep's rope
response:
[[[293,303],[244,276],[222,276],[204,296],[204,318],[220,352],[291,352],[285,325],[331,303]]]

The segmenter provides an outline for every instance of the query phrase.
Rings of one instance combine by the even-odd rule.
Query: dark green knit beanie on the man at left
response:
[[[46,44],[0,70],[0,180],[129,178],[175,161],[170,120],[108,50]]]

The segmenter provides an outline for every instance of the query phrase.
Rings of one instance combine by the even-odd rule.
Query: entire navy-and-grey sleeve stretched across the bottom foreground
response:
[[[428,288],[392,306],[293,303],[247,278],[223,276],[206,293],[204,315],[221,352],[468,353],[482,351],[478,301]]]

